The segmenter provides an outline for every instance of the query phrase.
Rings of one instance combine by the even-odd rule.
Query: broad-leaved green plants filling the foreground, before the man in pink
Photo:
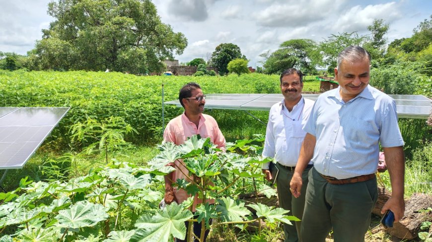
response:
[[[35,183],[24,179],[21,187],[11,192],[20,195],[11,197],[0,193],[0,229],[12,230],[11,236],[1,240],[167,242],[172,237],[190,237],[186,235],[185,221],[199,221],[204,230],[209,230],[210,218],[219,218],[219,225],[233,223],[240,227],[257,220],[266,220],[274,226],[296,220],[287,216],[288,211],[282,208],[260,203],[249,205],[258,216],[250,218],[250,210],[236,198],[233,185],[239,178],[263,176],[260,165],[264,161],[260,161],[255,152],[262,147],[251,145],[253,142],[262,144],[262,136],[236,143],[239,150],[250,150],[248,155],[218,153],[220,150],[209,140],[194,136],[184,145],[162,144],[161,153],[147,167],[114,161],[106,167],[90,170],[86,176],[64,182]],[[180,205],[174,202],[162,210],[157,206],[162,197],[157,190],[162,190],[161,175],[165,173],[159,173],[161,166],[155,164],[164,166],[180,157],[186,157],[184,165],[189,170],[186,175],[196,175],[190,182],[182,181],[182,187],[196,187],[193,194],[203,200],[216,198],[215,204],[197,206],[196,220],[188,208],[189,202]],[[221,170],[228,172],[228,183],[216,179]]]

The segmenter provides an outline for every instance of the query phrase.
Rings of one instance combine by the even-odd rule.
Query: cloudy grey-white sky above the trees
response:
[[[50,0],[0,0],[0,51],[26,54],[53,18]],[[182,32],[187,62],[208,55],[221,43],[233,43],[262,65],[260,53],[290,39],[322,41],[331,34],[358,31],[375,18],[390,24],[389,42],[410,37],[432,14],[432,0],[153,0],[162,22]]]

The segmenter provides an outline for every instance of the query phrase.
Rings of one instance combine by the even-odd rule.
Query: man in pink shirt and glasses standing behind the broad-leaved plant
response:
[[[196,83],[188,83],[180,89],[179,93],[180,104],[185,111],[180,116],[169,121],[163,133],[164,142],[172,142],[175,145],[183,144],[188,138],[194,135],[200,135],[202,138],[210,138],[210,141],[218,148],[225,150],[225,138],[219,130],[216,120],[207,114],[203,114],[204,105],[206,104],[206,96],[201,91],[200,85]],[[172,201],[182,203],[190,195],[184,189],[175,189],[172,187],[172,181],[177,179],[188,180],[184,174],[189,171],[185,167],[182,160],[176,160],[173,164],[176,169],[165,176],[165,203],[170,204]],[[209,203],[214,203],[214,200],[208,200]],[[196,206],[201,203],[201,199],[196,196],[192,206],[192,212],[196,211]],[[186,226],[188,228],[188,226]],[[194,222],[194,233],[201,233],[201,223]],[[205,238],[209,230],[206,231]],[[187,234],[187,233],[186,233]],[[176,239],[177,242],[183,240]],[[198,241],[195,239],[195,241]]]

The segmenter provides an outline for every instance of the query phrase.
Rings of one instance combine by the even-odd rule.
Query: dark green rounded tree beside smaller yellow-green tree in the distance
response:
[[[211,63],[217,68],[219,75],[228,73],[228,63],[237,58],[246,59],[246,56],[241,54],[240,47],[231,43],[220,44],[216,47],[212,54]]]

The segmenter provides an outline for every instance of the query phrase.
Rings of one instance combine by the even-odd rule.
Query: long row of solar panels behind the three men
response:
[[[316,100],[320,94],[302,94],[304,98]],[[396,101],[396,109],[400,118],[429,117],[432,111],[432,100],[422,95],[389,95]],[[238,109],[269,111],[273,104],[284,98],[282,94],[208,94],[206,108]],[[179,100],[167,101],[181,107]]]

